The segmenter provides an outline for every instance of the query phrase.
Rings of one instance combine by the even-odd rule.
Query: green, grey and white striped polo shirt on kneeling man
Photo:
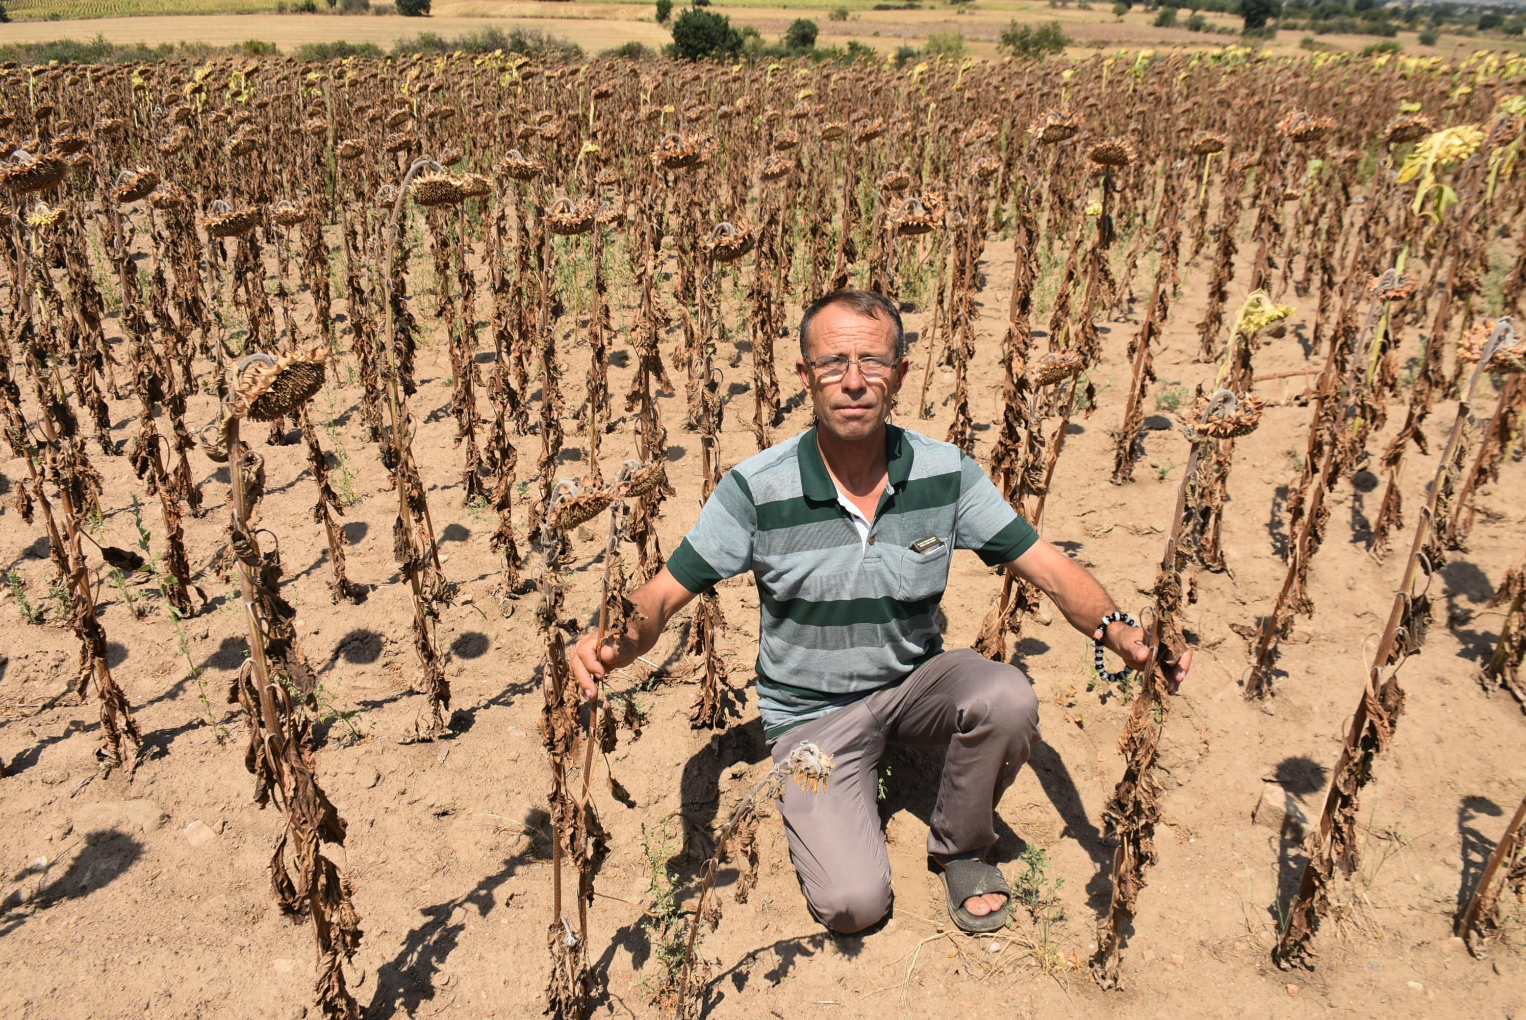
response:
[[[838,502],[810,429],[732,467],[667,562],[696,594],[752,571],[758,712],[771,741],[899,684],[943,650],[934,617],[952,550],[995,566],[1038,539],[957,446],[888,424],[885,447],[890,476],[867,539]]]

